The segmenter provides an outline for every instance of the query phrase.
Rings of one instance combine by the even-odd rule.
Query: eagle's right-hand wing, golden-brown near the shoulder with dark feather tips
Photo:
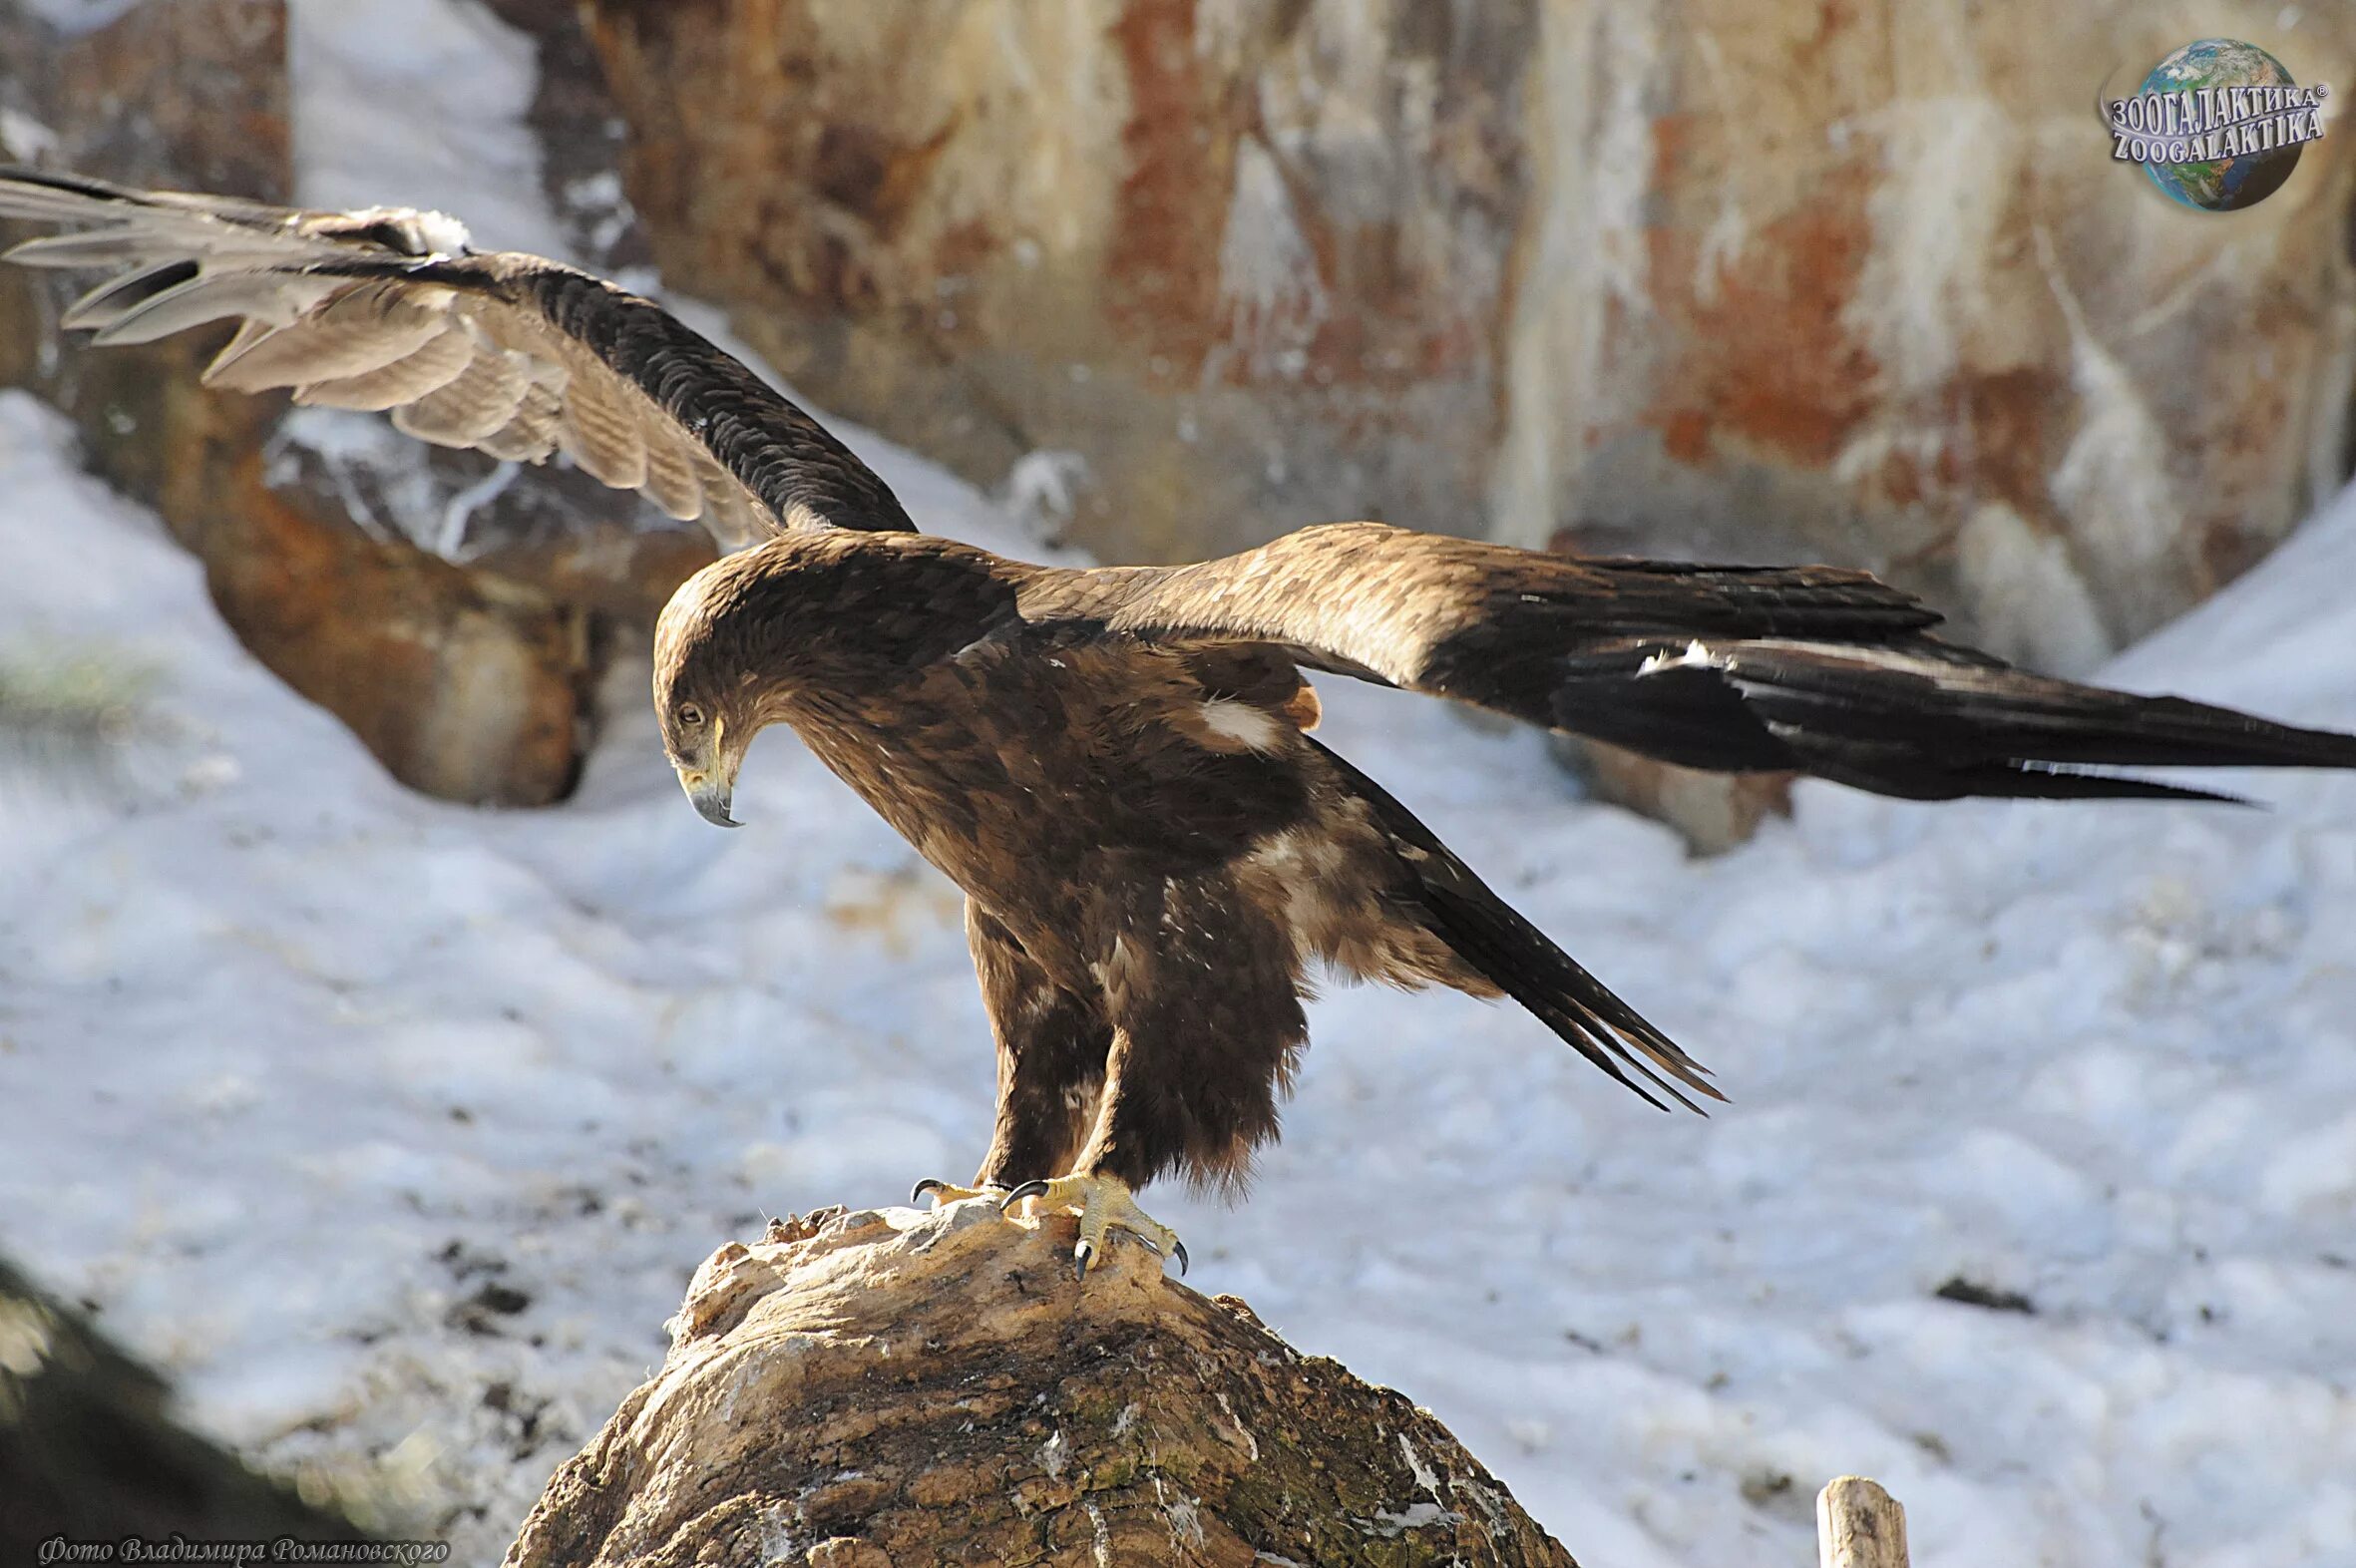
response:
[[[1039,572],[1032,622],[1265,643],[1715,772],[1913,800],[2224,798],[2104,768],[2356,768],[2356,737],[2036,676],[1866,572],[1581,560],[1381,523],[1185,567]]]

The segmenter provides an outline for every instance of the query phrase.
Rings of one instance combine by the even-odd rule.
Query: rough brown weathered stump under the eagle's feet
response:
[[[721,1248],[509,1568],[1576,1568],[1404,1396],[1072,1241],[968,1201]]]

